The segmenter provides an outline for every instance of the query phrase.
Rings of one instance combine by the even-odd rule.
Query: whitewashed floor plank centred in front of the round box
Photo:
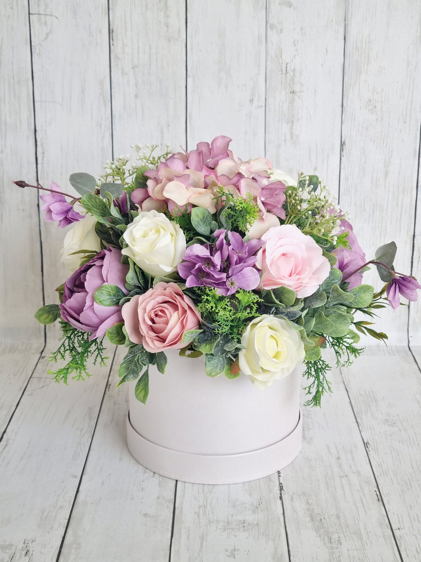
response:
[[[277,474],[223,486],[177,484],[171,562],[288,560]]]

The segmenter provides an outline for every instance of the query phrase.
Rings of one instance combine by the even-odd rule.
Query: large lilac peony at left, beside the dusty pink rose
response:
[[[120,250],[108,246],[65,283],[61,318],[74,328],[92,332],[89,341],[104,336],[113,324],[123,321],[121,306],[102,306],[94,300],[95,291],[105,283],[117,285],[124,294],[129,294],[125,287],[129,266],[120,260]]]

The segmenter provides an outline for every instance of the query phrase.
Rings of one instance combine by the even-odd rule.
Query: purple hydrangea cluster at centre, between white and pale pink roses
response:
[[[224,296],[237,289],[255,289],[261,271],[255,267],[254,254],[263,246],[263,241],[243,242],[240,234],[223,229],[216,230],[214,236],[217,238],[214,244],[192,244],[187,248],[185,261],[177,268],[186,279],[186,286],[215,287],[217,293]]]

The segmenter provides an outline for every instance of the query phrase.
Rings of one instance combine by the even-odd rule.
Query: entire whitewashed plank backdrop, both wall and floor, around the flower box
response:
[[[395,239],[421,278],[420,62],[412,0],[0,2],[0,562],[421,559],[419,303],[378,321],[396,347],[332,372],[292,465],[175,483],[127,451],[121,350],[86,383],[46,374],[58,333],[33,314],[66,278],[66,229],[11,184],[68,191],[132,143],[226,134],[318,173],[367,256]]]

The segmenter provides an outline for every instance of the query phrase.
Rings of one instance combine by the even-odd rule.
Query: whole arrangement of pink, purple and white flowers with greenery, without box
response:
[[[393,268],[396,244],[367,261],[343,212],[315,175],[295,180],[266,158],[242,161],[231,139],[198,143],[190,152],[155,156],[158,145],[132,146],[107,162],[98,182],[70,176],[80,197],[43,191],[45,220],[66,234],[61,261],[70,277],[56,290],[60,304],[35,314],[59,319],[63,342],[51,356],[67,360],[54,375],[89,376],[86,360],[104,364],[103,338],[125,346],[120,382],[149,393],[149,366],[164,373],[166,351],[204,356],[209,377],[246,375],[259,389],[304,363],[307,404],[319,406],[331,368],[360,355],[359,332],[385,341],[372,319],[400,295],[417,300],[421,285]],[[376,265],[375,292],[363,273]],[[358,314],[363,319],[356,319]],[[51,371],[50,371],[51,372]]]

